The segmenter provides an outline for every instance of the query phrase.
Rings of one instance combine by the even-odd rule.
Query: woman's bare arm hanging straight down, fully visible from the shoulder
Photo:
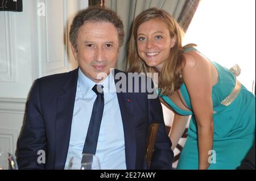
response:
[[[191,99],[197,123],[199,169],[208,169],[208,151],[213,146],[212,73],[210,63],[201,54],[184,54],[183,79]]]

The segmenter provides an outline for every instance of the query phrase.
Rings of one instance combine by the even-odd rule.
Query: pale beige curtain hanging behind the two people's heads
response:
[[[157,7],[159,9],[166,10],[169,12],[176,20],[181,18],[182,22],[185,22],[186,18],[191,16],[192,13],[188,15],[185,13],[192,6],[193,1],[200,0],[106,0],[105,6],[113,11],[117,12],[120,18],[123,20],[123,26],[125,28],[125,40],[121,52],[119,53],[119,58],[116,68],[119,70],[126,70],[127,68],[127,46],[130,38],[131,25],[134,18],[140,14],[143,10],[151,7]],[[186,7],[186,8],[184,8]],[[192,6],[194,7],[194,6]],[[191,20],[190,20],[191,21]],[[190,23],[189,21],[189,23]],[[184,23],[185,25],[189,23]]]

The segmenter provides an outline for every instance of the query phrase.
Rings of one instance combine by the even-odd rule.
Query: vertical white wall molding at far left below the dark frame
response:
[[[16,82],[16,41],[14,12],[4,12],[6,37],[6,71],[0,71],[0,82]]]

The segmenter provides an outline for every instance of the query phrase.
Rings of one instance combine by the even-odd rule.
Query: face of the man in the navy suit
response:
[[[99,73],[109,74],[118,59],[119,41],[117,28],[107,22],[86,22],[77,35],[77,52],[72,52],[79,67],[94,82],[102,81]]]

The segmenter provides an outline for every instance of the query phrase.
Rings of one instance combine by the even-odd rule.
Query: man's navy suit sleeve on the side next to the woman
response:
[[[158,96],[155,99],[148,99],[148,110],[151,123],[153,121],[159,123],[150,169],[172,169],[174,153],[171,150],[172,143],[166,132],[162,105]]]

